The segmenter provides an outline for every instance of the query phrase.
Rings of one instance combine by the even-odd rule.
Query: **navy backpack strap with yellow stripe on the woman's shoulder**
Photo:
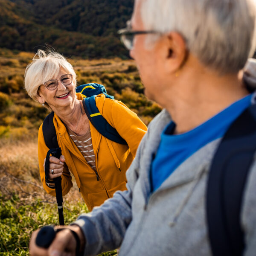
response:
[[[84,110],[90,122],[104,137],[116,143],[127,145],[126,141],[119,135],[116,129],[107,122],[101,113],[99,113],[99,109],[96,106],[95,97],[96,96],[94,95],[83,99]]]

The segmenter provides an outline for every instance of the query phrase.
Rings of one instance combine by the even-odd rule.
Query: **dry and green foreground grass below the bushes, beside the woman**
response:
[[[0,155],[0,255],[29,255],[32,231],[58,224],[55,198],[41,186],[35,139],[2,139]],[[65,223],[82,212],[87,212],[87,207],[75,185],[64,197]]]

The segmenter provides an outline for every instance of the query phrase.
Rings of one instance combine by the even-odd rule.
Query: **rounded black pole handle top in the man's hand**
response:
[[[45,226],[39,230],[35,244],[39,247],[48,248],[55,238],[56,231],[52,226]]]

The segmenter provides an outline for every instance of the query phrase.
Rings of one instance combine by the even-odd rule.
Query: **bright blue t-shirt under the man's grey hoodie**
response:
[[[252,95],[233,103],[203,124],[183,134],[173,135],[175,123],[170,122],[161,134],[157,154],[151,163],[151,191],[158,189],[166,178],[198,149],[221,138],[231,123],[251,105]]]

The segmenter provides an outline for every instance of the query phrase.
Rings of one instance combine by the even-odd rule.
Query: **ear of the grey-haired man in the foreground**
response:
[[[182,35],[177,32],[170,32],[164,38],[162,48],[165,58],[165,69],[167,73],[175,73],[180,70],[186,62],[186,42]]]

